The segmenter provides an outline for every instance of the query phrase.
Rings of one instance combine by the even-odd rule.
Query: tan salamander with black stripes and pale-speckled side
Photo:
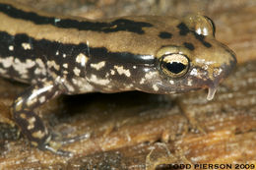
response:
[[[32,145],[61,152],[34,109],[60,94],[140,90],[170,94],[208,88],[236,64],[201,15],[88,20],[0,0],[0,75],[31,86],[11,107]]]

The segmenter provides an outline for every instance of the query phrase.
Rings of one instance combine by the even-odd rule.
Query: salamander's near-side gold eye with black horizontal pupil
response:
[[[189,60],[183,54],[167,54],[160,59],[161,71],[170,78],[180,78],[189,69]]]

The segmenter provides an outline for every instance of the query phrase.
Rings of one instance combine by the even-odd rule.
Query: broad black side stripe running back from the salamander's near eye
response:
[[[27,42],[32,46],[31,50],[24,50],[22,43]],[[10,51],[9,46],[13,45],[14,50]],[[126,63],[137,65],[152,65],[154,57],[147,58],[147,55],[133,54],[130,52],[111,52],[105,47],[89,47],[86,43],[80,44],[63,44],[57,41],[47,39],[36,40],[25,33],[16,35],[0,31],[0,57],[14,56],[21,61],[41,57],[42,59],[65,60],[62,56],[56,56],[56,51],[60,54],[66,54],[67,62],[74,62],[75,57],[84,53],[89,57],[100,58],[113,63]],[[89,53],[90,52],[90,53]],[[61,61],[59,61],[61,62]]]

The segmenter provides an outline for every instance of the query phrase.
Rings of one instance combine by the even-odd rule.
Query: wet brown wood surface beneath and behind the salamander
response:
[[[32,5],[32,1],[23,1]],[[84,4],[84,5],[81,5]],[[27,85],[0,82],[0,169],[169,169],[171,163],[256,164],[256,3],[251,1],[38,1],[35,8],[90,18],[205,14],[238,66],[213,101],[206,91],[61,96],[36,110],[63,146],[61,157],[38,150],[19,133],[9,106]]]

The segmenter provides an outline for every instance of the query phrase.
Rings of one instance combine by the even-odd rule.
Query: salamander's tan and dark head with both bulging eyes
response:
[[[208,88],[207,99],[211,100],[217,86],[234,68],[235,54],[215,39],[214,24],[207,17],[188,16],[177,28],[176,41],[182,45],[165,45],[156,52],[157,72],[150,79],[145,77],[146,82],[156,93]]]

